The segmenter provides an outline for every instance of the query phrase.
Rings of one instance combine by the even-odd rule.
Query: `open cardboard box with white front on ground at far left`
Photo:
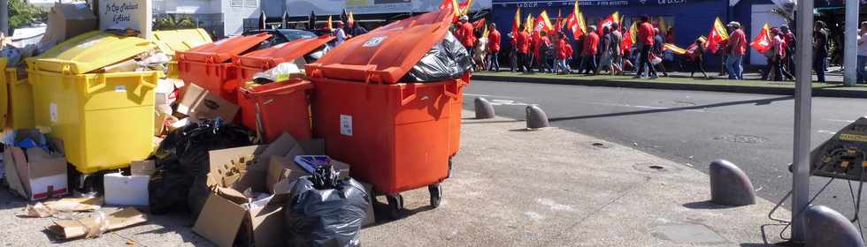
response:
[[[17,137],[35,137],[33,131],[17,131]],[[58,150],[59,141],[54,140]],[[4,170],[9,188],[22,198],[40,200],[59,198],[69,193],[66,181],[66,158],[48,153],[42,148],[21,149],[7,146],[4,152]]]

